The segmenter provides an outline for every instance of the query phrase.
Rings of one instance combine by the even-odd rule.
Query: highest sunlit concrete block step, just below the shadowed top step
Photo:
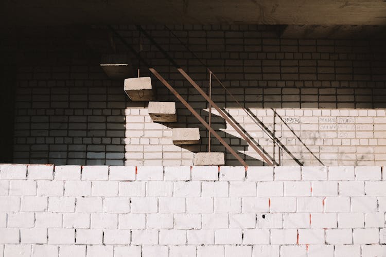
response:
[[[150,77],[125,79],[125,92],[133,102],[147,102],[155,99]]]

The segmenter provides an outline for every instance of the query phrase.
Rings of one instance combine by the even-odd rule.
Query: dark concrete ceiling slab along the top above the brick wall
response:
[[[2,26],[386,25],[386,0],[2,0]]]

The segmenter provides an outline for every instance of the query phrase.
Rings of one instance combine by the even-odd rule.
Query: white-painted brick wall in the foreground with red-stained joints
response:
[[[381,167],[36,167],[0,166],[0,256],[386,251]]]

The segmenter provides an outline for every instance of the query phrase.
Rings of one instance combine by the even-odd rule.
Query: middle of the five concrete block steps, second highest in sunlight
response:
[[[175,102],[149,102],[148,111],[155,122],[177,122]]]

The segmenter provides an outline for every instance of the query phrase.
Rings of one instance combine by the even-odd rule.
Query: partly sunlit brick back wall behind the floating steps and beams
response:
[[[192,79],[207,89],[206,69],[168,30],[163,26],[144,28]],[[138,44],[134,26],[116,29],[129,43]],[[289,40],[278,36],[277,26],[264,25],[187,25],[170,29],[248,108],[251,116],[213,83],[213,100],[271,159],[278,161],[279,148],[268,135],[283,144],[282,160],[288,166],[386,163],[383,41]],[[207,131],[180,102],[176,105],[178,122],[172,126],[199,127],[201,144],[183,148],[173,145],[171,125],[152,122],[146,102],[130,102],[123,81],[110,80],[99,66],[99,54],[91,53],[81,42],[39,38],[29,40],[31,47],[34,42],[43,54],[32,56],[30,63],[27,59],[17,76],[15,162],[190,166],[195,152],[207,150]],[[208,106],[201,95],[146,39],[142,44],[142,56],[208,120]],[[56,48],[51,51],[53,46]],[[118,41],[116,47],[119,52],[127,52]],[[150,76],[145,68],[141,75]],[[176,101],[154,77],[152,84],[157,101]],[[251,117],[266,128],[263,130]],[[217,112],[212,122],[249,166],[262,164]],[[212,142],[212,151],[226,153],[217,139]],[[225,160],[226,165],[239,165],[229,152]],[[20,171],[14,178],[23,176]],[[49,171],[44,176],[49,176]]]

